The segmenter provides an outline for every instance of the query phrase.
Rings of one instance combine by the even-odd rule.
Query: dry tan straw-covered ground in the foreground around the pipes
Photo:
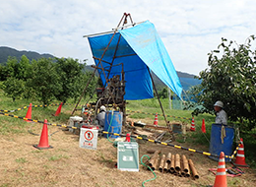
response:
[[[40,134],[41,128],[32,128]],[[39,143],[40,136],[26,133],[8,135],[0,138],[0,186],[92,186],[92,187],[131,187],[142,186],[154,174],[140,164],[139,172],[120,171],[115,167],[117,149],[105,138],[97,139],[96,151],[79,147],[79,136],[58,127],[48,126],[49,145],[53,149],[37,150],[32,145]],[[171,144],[178,145],[177,142]],[[186,147],[186,144],[181,145]],[[199,179],[179,177],[156,170],[157,179],[146,182],[147,187],[158,186],[207,186],[213,185],[215,175],[209,168],[217,168],[218,161],[208,156],[180,149],[139,143],[139,155],[152,156],[148,151],[160,150],[161,154],[180,154],[193,160]],[[231,166],[226,163],[226,167]],[[243,169],[239,177],[226,177],[227,186],[256,186],[256,172],[251,168]]]

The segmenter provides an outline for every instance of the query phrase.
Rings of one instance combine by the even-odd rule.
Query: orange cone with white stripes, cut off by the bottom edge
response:
[[[219,158],[214,187],[227,187],[225,163],[224,163],[224,152],[221,152],[221,155]]]

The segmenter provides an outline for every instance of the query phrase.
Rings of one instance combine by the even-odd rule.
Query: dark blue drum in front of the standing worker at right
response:
[[[212,124],[210,154],[220,156],[224,152],[224,156],[232,155],[232,145],[234,137],[234,128],[224,125],[225,137],[222,143],[222,124]],[[219,157],[209,156],[211,159],[219,160]],[[231,161],[230,158],[225,157],[225,161]]]

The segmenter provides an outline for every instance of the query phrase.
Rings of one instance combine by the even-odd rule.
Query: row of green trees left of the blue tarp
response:
[[[30,62],[25,55],[20,61],[9,56],[6,65],[0,65],[0,88],[13,100],[23,97],[43,104],[53,99],[76,101],[87,84],[85,97],[94,95],[98,85],[99,79],[93,73],[84,73],[84,66],[72,58],[40,58]]]

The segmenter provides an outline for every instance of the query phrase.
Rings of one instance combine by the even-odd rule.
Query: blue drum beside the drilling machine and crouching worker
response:
[[[121,134],[122,123],[123,123],[123,112],[113,111],[113,114],[111,110],[105,112],[104,131],[108,133]],[[109,138],[113,138],[113,139],[116,139],[119,137],[119,136],[110,135],[110,134],[104,134],[104,137],[107,138],[107,135]]]

